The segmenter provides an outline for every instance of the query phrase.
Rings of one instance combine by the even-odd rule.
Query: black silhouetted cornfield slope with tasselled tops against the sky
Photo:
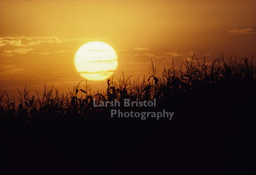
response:
[[[185,68],[183,68],[185,65]],[[2,173],[241,174],[255,169],[256,64],[223,56],[186,61],[148,79],[107,80],[59,94],[0,97]],[[183,69],[182,69],[183,68]],[[94,106],[100,101],[120,106]],[[125,106],[124,99],[156,106]],[[18,102],[18,105],[16,104]],[[120,112],[174,112],[169,118]]]

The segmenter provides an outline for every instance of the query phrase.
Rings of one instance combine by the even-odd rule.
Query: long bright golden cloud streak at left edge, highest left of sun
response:
[[[15,46],[15,47],[28,47],[40,45],[40,43],[61,43],[67,39],[60,40],[57,37],[3,37],[0,38],[0,47],[5,45]]]

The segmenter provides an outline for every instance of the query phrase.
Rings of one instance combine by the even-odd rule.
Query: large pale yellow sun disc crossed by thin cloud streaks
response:
[[[115,50],[107,43],[88,42],[81,46],[75,55],[75,67],[83,78],[88,80],[105,80],[113,75],[117,68]]]

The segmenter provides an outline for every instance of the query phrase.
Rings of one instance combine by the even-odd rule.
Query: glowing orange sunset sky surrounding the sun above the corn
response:
[[[161,76],[172,61],[207,62],[256,54],[255,1],[1,1],[0,93],[60,91],[83,78],[76,51],[90,41],[117,53],[116,77],[146,78],[151,59]],[[94,90],[106,81],[89,81]],[[85,85],[85,80],[82,82]]]

